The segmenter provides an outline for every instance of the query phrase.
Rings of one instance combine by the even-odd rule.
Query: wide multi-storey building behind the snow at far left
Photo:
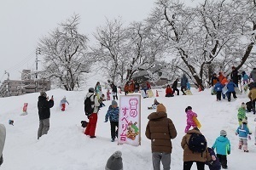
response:
[[[21,94],[31,94],[41,90],[50,90],[50,82],[45,79],[32,79],[30,70],[23,70],[21,80],[4,80],[0,86],[0,97],[17,96]]]

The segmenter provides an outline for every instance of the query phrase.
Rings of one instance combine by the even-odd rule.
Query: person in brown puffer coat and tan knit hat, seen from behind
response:
[[[160,161],[164,170],[170,170],[172,142],[177,131],[170,118],[167,118],[166,107],[157,105],[156,112],[148,116],[146,137],[151,140],[152,161],[154,170],[160,170]]]

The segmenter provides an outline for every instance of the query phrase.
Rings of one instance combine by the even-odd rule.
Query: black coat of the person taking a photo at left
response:
[[[54,100],[46,100],[44,96],[38,97],[38,115],[40,120],[48,119],[50,116],[49,108],[54,106]]]

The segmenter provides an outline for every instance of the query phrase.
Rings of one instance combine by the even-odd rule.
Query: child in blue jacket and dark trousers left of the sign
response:
[[[112,100],[112,104],[108,107],[105,122],[108,122],[108,118],[111,127],[111,142],[113,142],[115,137],[118,138],[119,132],[119,107],[115,100]],[[117,129],[115,129],[115,127],[117,127]]]

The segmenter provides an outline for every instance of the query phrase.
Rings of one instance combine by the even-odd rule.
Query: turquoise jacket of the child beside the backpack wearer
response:
[[[212,149],[214,150],[215,148],[217,154],[228,155],[230,153],[230,140],[227,137],[219,136],[212,145]]]

